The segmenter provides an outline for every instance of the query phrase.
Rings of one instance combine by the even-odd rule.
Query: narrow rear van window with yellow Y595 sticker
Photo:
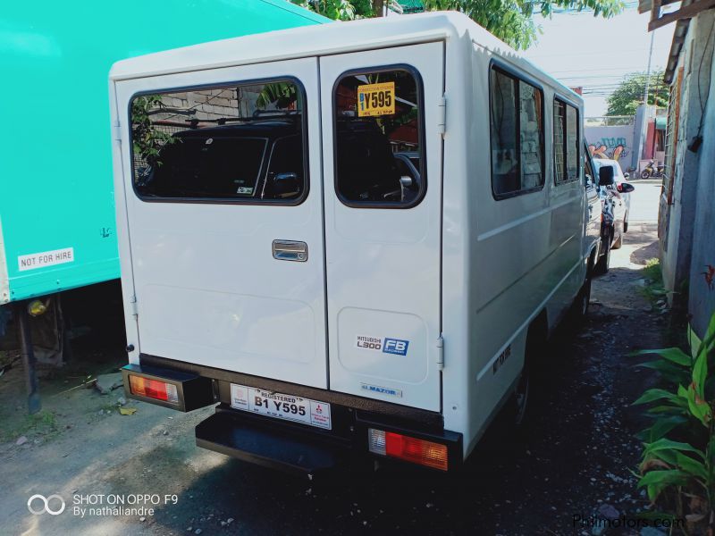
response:
[[[335,191],[342,203],[417,205],[427,181],[419,74],[408,67],[351,71],[332,97]]]

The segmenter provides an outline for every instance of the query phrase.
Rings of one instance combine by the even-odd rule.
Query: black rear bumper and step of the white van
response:
[[[180,411],[218,403],[215,414],[196,428],[198,447],[258,465],[315,474],[366,457],[386,459],[369,452],[370,429],[444,445],[448,471],[462,465],[462,434],[445,431],[442,415],[434,412],[155,356],[142,355],[140,365],[127,365],[122,373],[130,398]],[[171,405],[136,396],[130,391],[130,374],[176,384],[180,403]],[[231,383],[327,402],[331,405],[332,427],[324,430],[233,409]]]

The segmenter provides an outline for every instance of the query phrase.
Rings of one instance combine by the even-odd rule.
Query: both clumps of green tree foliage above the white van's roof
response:
[[[291,0],[331,19],[349,21],[382,13],[390,0]],[[620,13],[623,0],[423,0],[426,10],[457,10],[515,48],[528,48],[541,28],[534,14],[551,17],[557,8],[592,10],[606,19]]]

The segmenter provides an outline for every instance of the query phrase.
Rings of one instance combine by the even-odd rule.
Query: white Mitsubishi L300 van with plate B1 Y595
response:
[[[217,404],[200,447],[307,473],[451,471],[523,415],[597,255],[579,96],[458,13],[150,54],[110,86],[130,397]]]

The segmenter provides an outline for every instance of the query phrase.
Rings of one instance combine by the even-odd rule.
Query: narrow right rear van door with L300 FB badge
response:
[[[320,58],[330,387],[439,411],[443,44]]]

